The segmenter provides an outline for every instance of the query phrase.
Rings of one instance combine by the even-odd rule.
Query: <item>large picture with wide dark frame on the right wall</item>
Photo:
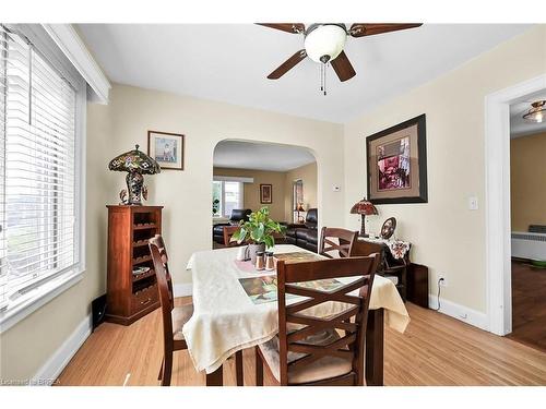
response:
[[[366,137],[368,200],[427,203],[425,113]]]

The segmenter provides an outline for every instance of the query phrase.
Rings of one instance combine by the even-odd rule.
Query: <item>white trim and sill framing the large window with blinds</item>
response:
[[[49,62],[59,70],[72,86],[76,89],[76,127],[75,127],[75,171],[76,171],[76,197],[75,218],[78,238],[78,258],[75,266],[56,279],[37,287],[21,296],[10,304],[8,310],[0,312],[0,334],[8,330],[20,321],[45,305],[57,296],[61,294],[83,278],[85,272],[85,169],[86,169],[86,83],[83,77],[70,64],[64,55],[39,25],[17,25],[44,53]]]

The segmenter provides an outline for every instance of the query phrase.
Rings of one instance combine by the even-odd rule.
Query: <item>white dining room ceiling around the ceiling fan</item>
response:
[[[425,24],[348,38],[357,74],[341,83],[306,59],[276,81],[266,75],[304,48],[301,35],[254,24],[80,24],[114,82],[241,106],[346,122],[365,110],[453,70],[527,29],[515,24]]]

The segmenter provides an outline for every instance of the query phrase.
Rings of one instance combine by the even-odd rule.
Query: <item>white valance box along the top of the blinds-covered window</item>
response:
[[[108,104],[111,84],[72,24],[41,24],[93,91],[90,99]]]

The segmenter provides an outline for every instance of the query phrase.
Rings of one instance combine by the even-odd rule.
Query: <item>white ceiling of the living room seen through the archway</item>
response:
[[[214,149],[218,168],[272,170],[284,172],[313,163],[314,156],[302,147],[222,141]]]

